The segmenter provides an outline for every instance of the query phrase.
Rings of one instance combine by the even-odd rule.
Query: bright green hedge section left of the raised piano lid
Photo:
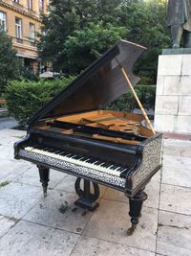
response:
[[[10,81],[4,93],[10,115],[21,125],[25,124],[41,106],[73,80],[74,77],[53,81]]]

